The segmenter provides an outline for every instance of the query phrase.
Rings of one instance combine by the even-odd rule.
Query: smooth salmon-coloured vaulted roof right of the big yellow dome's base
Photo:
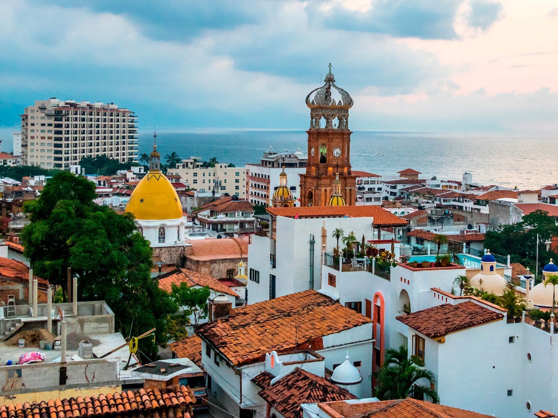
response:
[[[190,240],[186,257],[194,260],[232,259],[248,256],[248,237]]]

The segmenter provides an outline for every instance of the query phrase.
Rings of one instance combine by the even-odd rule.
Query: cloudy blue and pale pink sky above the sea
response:
[[[558,130],[555,0],[3,0],[0,126],[56,96],[144,129],[305,129],[329,62],[353,129]]]

